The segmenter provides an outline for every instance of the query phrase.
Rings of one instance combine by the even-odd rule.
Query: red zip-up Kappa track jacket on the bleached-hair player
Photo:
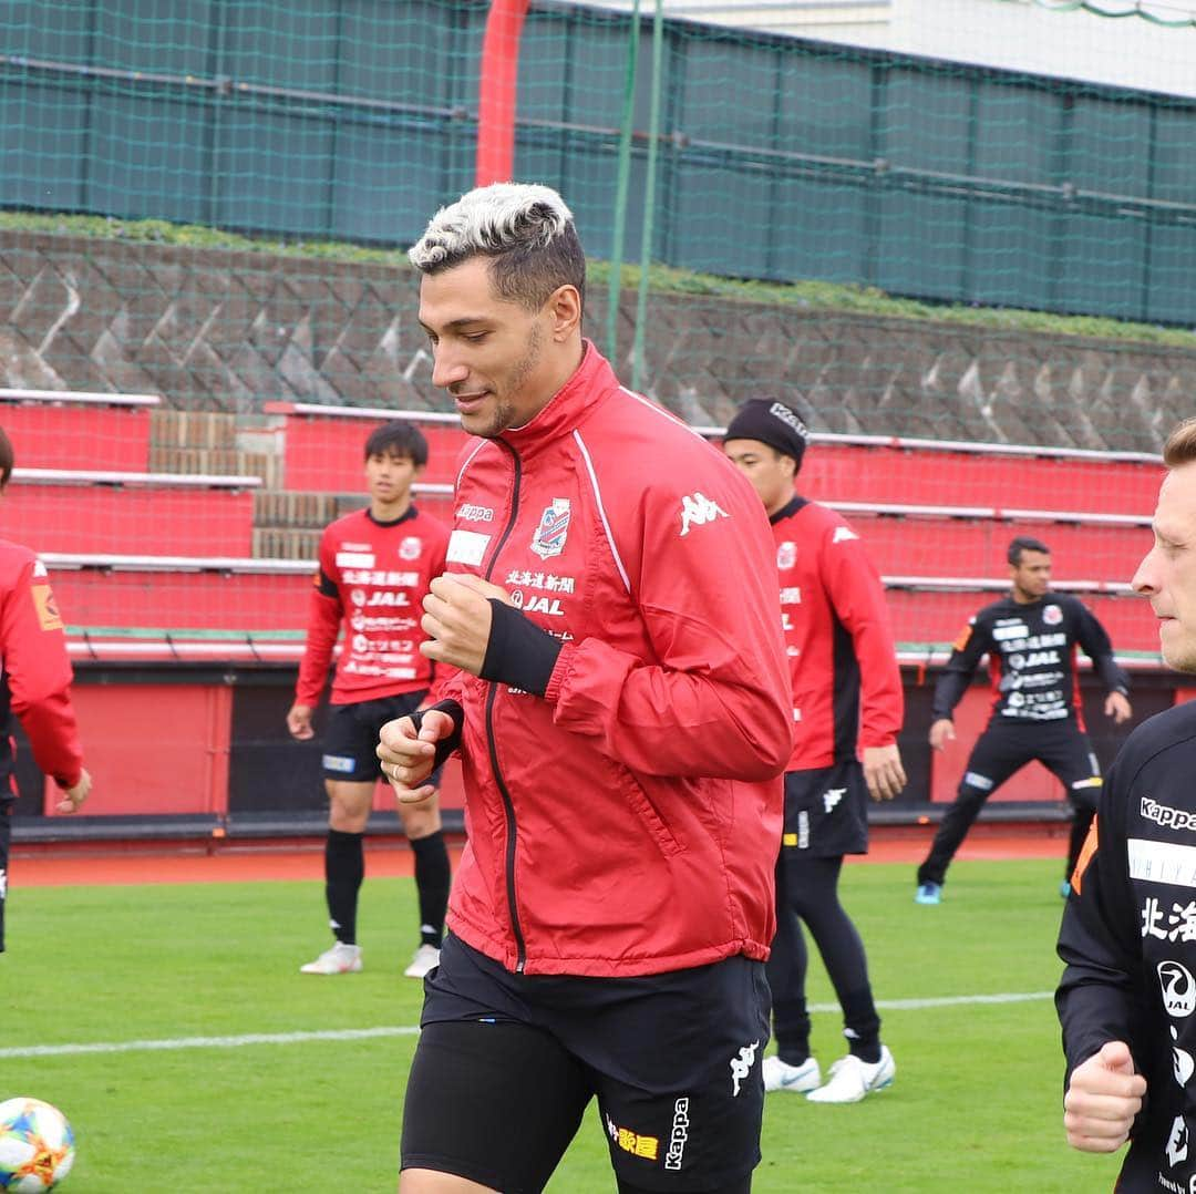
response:
[[[470,443],[456,505],[448,569],[565,646],[543,697],[438,690],[464,709],[452,931],[527,974],[767,957],[792,700],[751,486],[587,342],[531,422]]]

